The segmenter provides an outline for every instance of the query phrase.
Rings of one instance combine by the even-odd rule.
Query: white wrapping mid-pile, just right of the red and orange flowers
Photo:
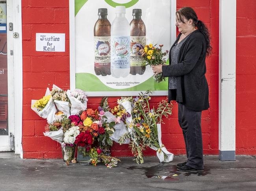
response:
[[[106,112],[104,114],[104,116],[106,116],[108,118],[108,120],[107,120],[108,123],[113,122],[116,119],[116,117],[112,113],[110,113],[109,111]],[[127,131],[127,128],[126,128],[126,126],[124,125],[124,123],[122,121],[121,121],[120,124],[119,123],[115,124],[114,128],[115,128],[115,132],[111,136],[109,136],[109,138],[111,138],[111,140],[119,143],[118,141],[119,141],[120,137],[122,135],[124,135],[125,133],[128,133],[128,131]],[[129,144],[129,143],[130,143],[130,139],[126,139],[126,141],[124,142],[124,144]]]

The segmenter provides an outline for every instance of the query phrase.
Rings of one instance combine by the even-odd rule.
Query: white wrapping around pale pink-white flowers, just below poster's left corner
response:
[[[80,100],[70,95],[70,90],[67,90],[67,96],[69,97],[69,101],[71,103],[70,115],[78,115],[80,111],[84,111],[87,109],[87,101],[82,103]]]

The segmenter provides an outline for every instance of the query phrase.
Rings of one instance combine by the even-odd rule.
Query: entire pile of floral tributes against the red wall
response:
[[[152,93],[121,97],[110,108],[108,97],[102,97],[98,109],[87,108],[87,95],[81,89],[64,91],[53,85],[40,100],[32,100],[31,109],[47,119],[45,136],[61,144],[63,161],[96,166],[102,162],[115,167],[120,161],[111,156],[113,141],[129,144],[134,160],[143,163],[143,151],[150,147],[160,162],[170,162],[169,153],[161,142],[162,117],[172,114],[172,104],[162,100],[157,108],[150,107]],[[77,156],[75,151],[77,150]]]

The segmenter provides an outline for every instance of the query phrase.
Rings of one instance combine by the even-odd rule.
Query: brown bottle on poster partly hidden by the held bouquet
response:
[[[146,26],[141,19],[141,9],[133,9],[133,20],[130,23],[131,29],[131,53],[130,53],[130,74],[143,75],[146,69],[145,63],[137,51],[137,46],[146,45]]]

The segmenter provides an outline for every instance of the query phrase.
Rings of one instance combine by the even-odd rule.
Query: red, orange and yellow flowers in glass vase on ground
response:
[[[109,159],[109,164],[113,163],[113,161],[117,163],[115,158],[109,156],[110,147],[113,145],[110,136],[115,132],[115,122],[107,122],[104,110],[108,111],[105,107],[99,107],[99,111],[89,108],[80,113],[78,117],[80,121],[78,119],[73,120],[78,123],[80,131],[74,144],[78,146],[77,159],[81,164],[91,163],[96,166],[99,161],[107,163],[107,159]],[[70,116],[70,118],[74,117]],[[112,159],[113,161],[111,162]],[[114,164],[110,166],[113,167],[116,165]]]

